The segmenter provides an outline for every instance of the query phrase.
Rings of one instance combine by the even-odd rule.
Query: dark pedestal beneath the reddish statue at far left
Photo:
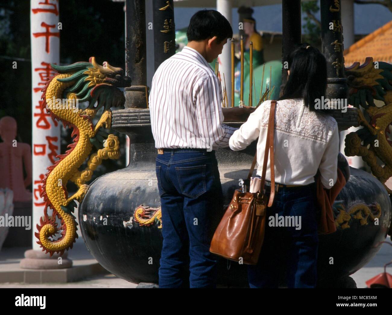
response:
[[[31,247],[33,242],[33,232],[35,228],[33,225],[33,209],[31,201],[14,202],[13,216],[27,216],[31,223],[30,229],[26,227],[9,227],[7,238],[4,241],[3,247]]]

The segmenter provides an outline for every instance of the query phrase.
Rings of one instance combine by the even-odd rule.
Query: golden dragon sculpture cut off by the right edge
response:
[[[349,103],[359,109],[358,122],[364,127],[346,136],[345,155],[362,157],[391,194],[385,182],[392,176],[392,65],[367,57],[363,65],[345,68],[345,74]]]

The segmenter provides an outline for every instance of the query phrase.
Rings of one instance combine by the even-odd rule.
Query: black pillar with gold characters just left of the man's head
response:
[[[174,28],[173,0],[152,2],[154,21],[154,69],[176,53],[176,33]]]

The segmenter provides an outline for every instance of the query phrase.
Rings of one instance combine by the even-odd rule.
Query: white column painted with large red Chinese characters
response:
[[[33,151],[33,249],[42,250],[34,236],[36,224],[44,215],[44,200],[40,196],[47,167],[54,164],[60,152],[60,122],[54,122],[46,108],[42,109],[41,89],[49,76],[56,72],[50,63],[60,63],[59,6],[57,1],[31,0],[31,80],[32,80],[32,151]],[[51,211],[48,211],[51,214]]]

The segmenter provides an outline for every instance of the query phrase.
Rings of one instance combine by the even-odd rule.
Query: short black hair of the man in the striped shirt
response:
[[[229,21],[218,11],[200,10],[193,14],[189,22],[188,41],[200,41],[216,36],[218,43],[233,37],[233,29]]]

